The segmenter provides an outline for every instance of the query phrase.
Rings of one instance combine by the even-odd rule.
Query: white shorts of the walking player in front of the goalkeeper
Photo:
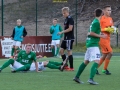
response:
[[[100,60],[100,50],[98,47],[90,47],[87,48],[87,51],[85,53],[84,60],[94,61],[94,60]]]

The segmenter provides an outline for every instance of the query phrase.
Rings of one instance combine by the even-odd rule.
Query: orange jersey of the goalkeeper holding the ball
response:
[[[100,39],[100,43],[104,43],[104,42],[109,42],[110,43],[110,33],[105,31],[105,28],[113,26],[113,20],[111,17],[106,17],[106,16],[102,16],[100,19],[100,25],[101,25],[101,33],[103,34],[107,34],[107,38]]]

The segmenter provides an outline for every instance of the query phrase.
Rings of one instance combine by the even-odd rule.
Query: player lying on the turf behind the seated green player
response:
[[[42,56],[39,55],[37,56],[37,59],[41,58]],[[37,62],[38,64],[38,70],[39,71],[43,71],[45,70],[45,67],[48,67],[50,69],[58,69],[60,71],[63,71],[63,68],[65,66],[65,64],[67,63],[68,59],[66,59],[64,62],[55,62],[55,61],[41,61],[41,62]],[[12,65],[10,65],[10,67],[15,70],[16,68],[14,68]],[[36,67],[35,67],[35,63],[33,62],[30,66],[29,71],[35,71]]]

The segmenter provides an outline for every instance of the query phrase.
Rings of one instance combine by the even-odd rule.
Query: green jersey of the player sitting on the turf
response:
[[[23,65],[26,65],[26,64],[32,64],[33,61],[36,62],[36,54],[34,52],[30,52],[29,54],[26,53],[25,50],[21,50],[19,53],[18,53],[18,62],[20,62],[21,64]]]

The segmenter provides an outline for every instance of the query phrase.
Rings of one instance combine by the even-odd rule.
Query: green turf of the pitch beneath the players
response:
[[[120,90],[119,59],[120,57],[111,59],[109,70],[112,75],[102,74],[103,66],[99,68],[101,75],[94,78],[95,81],[99,82],[99,85],[89,85],[86,82],[89,78],[92,63],[86,67],[81,75],[81,80],[85,82],[84,84],[77,84],[72,81],[83,58],[74,58],[75,71],[73,72],[60,72],[59,70],[46,68],[41,73],[11,73],[8,67],[0,73],[0,90]],[[61,59],[57,58],[43,58],[41,60],[61,61]],[[0,65],[4,62],[4,60],[1,60]]]

